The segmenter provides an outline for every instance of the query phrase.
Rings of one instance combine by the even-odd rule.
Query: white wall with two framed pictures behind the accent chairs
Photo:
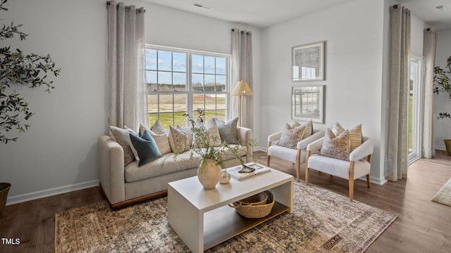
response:
[[[371,11],[369,11],[371,10]],[[383,66],[383,1],[360,0],[264,29],[262,74],[263,139],[291,119],[292,86],[326,86],[326,129],[334,122],[345,128],[362,124],[376,140],[371,175],[380,182],[381,94]],[[291,48],[326,41],[326,80],[291,82]]]

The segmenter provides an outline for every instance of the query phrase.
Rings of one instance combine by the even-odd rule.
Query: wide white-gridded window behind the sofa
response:
[[[230,56],[219,53],[147,45],[150,124],[159,119],[166,129],[187,126],[183,114],[197,117],[197,108],[205,111],[204,122],[226,120],[229,61]]]

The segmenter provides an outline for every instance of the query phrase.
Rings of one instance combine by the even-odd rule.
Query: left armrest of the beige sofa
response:
[[[124,151],[109,136],[97,138],[97,170],[110,204],[125,201]]]

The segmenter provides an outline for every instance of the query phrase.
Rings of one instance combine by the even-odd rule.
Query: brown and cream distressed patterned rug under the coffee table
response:
[[[106,202],[56,214],[55,252],[190,252],[168,226],[167,197],[111,211]],[[206,252],[364,252],[396,219],[303,182],[294,212],[266,221]]]

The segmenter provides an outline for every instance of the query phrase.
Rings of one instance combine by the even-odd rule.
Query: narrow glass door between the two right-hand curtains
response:
[[[409,82],[409,136],[408,156],[409,164],[421,157],[421,89],[423,80],[423,59],[412,56],[410,60]]]

